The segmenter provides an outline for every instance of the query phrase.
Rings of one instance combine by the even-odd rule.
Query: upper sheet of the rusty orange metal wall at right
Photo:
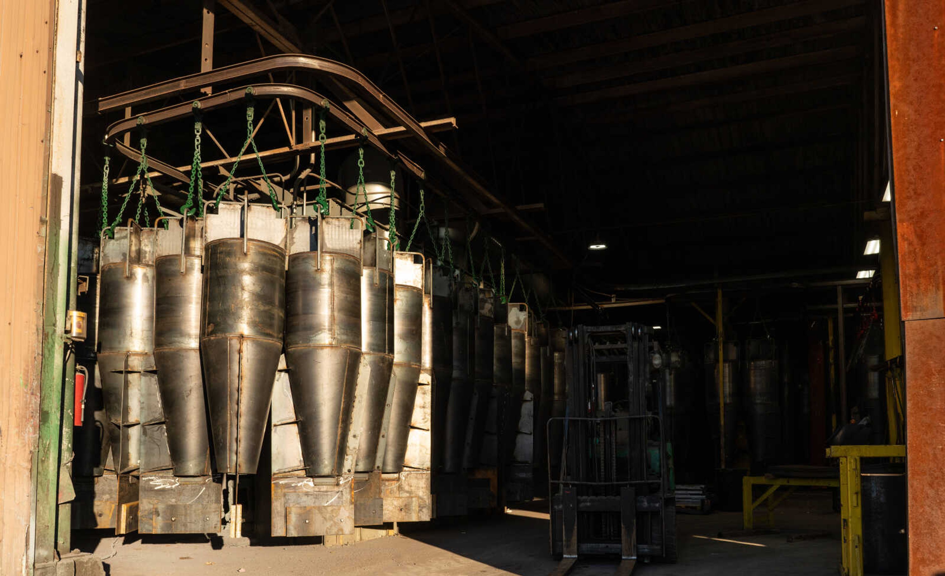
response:
[[[902,319],[945,316],[945,4],[886,0]],[[875,191],[879,194],[879,191]]]

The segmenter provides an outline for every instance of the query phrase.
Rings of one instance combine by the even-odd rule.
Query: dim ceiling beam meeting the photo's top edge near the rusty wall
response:
[[[694,25],[677,26],[650,34],[642,34],[610,42],[600,42],[572,50],[541,54],[527,59],[526,65],[532,70],[555,68],[582,60],[625,54],[642,48],[660,46],[670,42],[692,40],[720,32],[730,32],[732,30],[790,20],[801,16],[810,16],[839,8],[858,6],[862,3],[863,0],[803,0],[802,2],[779,6],[777,8],[752,10],[734,16],[700,22]]]

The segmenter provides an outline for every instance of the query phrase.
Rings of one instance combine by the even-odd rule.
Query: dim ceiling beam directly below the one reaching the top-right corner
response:
[[[615,66],[592,69],[582,68],[561,76],[555,76],[549,83],[555,88],[571,88],[582,84],[593,84],[594,82],[603,82],[615,78],[644,74],[646,72],[686,66],[696,62],[728,58],[748,52],[786,46],[797,42],[851,32],[853,30],[862,30],[866,28],[866,24],[866,16],[857,16],[847,20],[837,20],[821,25],[803,26],[774,34],[756,36],[747,40],[725,42],[713,46],[697,48],[695,50],[686,50],[684,52],[674,52],[661,57],[624,62]]]

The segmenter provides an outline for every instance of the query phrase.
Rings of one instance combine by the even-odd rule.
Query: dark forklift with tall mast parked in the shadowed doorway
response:
[[[578,326],[565,356],[567,409],[548,421],[551,552],[675,563],[676,498],[667,436],[664,354],[639,324]]]

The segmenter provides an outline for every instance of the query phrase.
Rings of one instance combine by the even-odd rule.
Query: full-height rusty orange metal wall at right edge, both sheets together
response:
[[[945,4],[886,0],[893,200],[905,321],[909,572],[945,572]]]

